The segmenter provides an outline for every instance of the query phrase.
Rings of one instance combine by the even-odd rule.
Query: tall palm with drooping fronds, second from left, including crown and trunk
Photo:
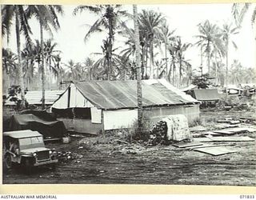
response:
[[[58,30],[60,28],[57,14],[63,14],[62,6],[33,5],[29,6],[28,9],[26,10],[26,15],[28,16],[28,18],[35,16],[38,19],[40,25],[40,45],[42,46],[42,109],[45,108],[45,53],[43,30],[47,30],[51,33],[50,25],[54,27],[54,30]]]

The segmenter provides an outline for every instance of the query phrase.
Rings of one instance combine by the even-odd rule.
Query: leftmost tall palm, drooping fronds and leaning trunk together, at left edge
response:
[[[22,5],[6,5],[2,6],[2,36],[7,36],[7,40],[10,36],[10,29],[15,22],[15,33],[16,33],[16,44],[17,44],[17,55],[18,55],[18,82],[21,86],[21,108],[25,107],[25,94],[24,94],[24,80],[23,80],[23,69],[22,69],[22,55],[21,55],[21,34],[24,34],[26,43],[30,44],[31,29],[27,22],[26,12],[24,10],[26,6]]]

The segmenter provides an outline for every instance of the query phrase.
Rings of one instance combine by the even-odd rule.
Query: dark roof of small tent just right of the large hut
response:
[[[194,91],[194,98],[198,101],[215,101],[220,99],[217,89],[198,89]]]

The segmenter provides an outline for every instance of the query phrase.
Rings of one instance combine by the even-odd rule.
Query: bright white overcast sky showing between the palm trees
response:
[[[209,19],[210,22],[222,26],[224,22],[233,21],[231,6],[232,4],[138,5],[138,11],[145,9],[161,12],[166,16],[170,29],[175,29],[175,34],[182,37],[182,42],[195,43],[196,38],[194,38],[194,35],[198,34],[198,23]],[[85,61],[85,58],[90,56],[90,53],[101,52],[102,39],[106,38],[103,34],[96,34],[90,37],[85,44],[83,38],[89,30],[89,27],[85,24],[92,25],[97,17],[86,11],[74,16],[73,10],[75,7],[63,7],[65,15],[59,17],[61,30],[54,33],[54,42],[58,43],[58,50],[62,51],[62,62],[67,62],[70,59],[74,59],[75,62]],[[123,9],[132,13],[131,5],[125,5]],[[235,51],[234,48],[230,48],[230,63],[233,62],[233,59],[238,59],[242,66],[255,67],[255,30],[251,26],[250,16],[251,14],[248,12],[242,23],[240,33],[233,38],[238,45],[238,50]],[[39,39],[38,22],[31,20],[30,26],[33,30],[33,38]],[[50,36],[46,34],[46,38],[50,38]],[[118,36],[115,38],[117,41],[121,40]],[[3,46],[6,47],[6,40],[3,41]],[[10,38],[9,48],[16,52],[14,31]],[[194,68],[200,65],[200,55],[197,48],[193,47],[187,50],[186,58],[190,60]]]

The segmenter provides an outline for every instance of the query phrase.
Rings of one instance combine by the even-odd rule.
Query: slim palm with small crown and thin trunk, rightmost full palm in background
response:
[[[238,34],[238,27],[232,27],[232,23],[230,24],[224,24],[222,27],[222,40],[225,43],[226,47],[226,86],[228,84],[228,70],[229,70],[229,48],[230,43],[233,44],[234,48],[237,49],[238,47],[234,43],[234,41],[231,40],[231,37],[234,34]]]

